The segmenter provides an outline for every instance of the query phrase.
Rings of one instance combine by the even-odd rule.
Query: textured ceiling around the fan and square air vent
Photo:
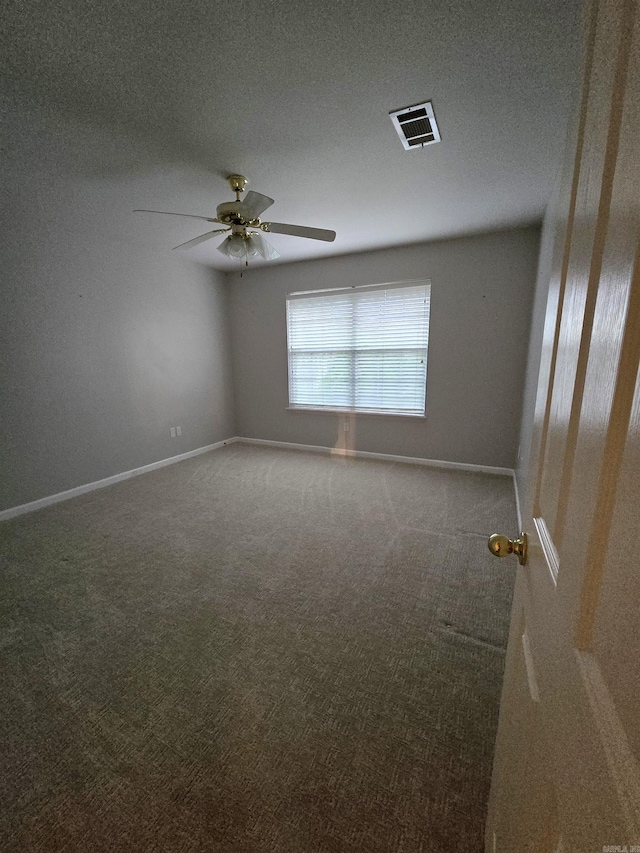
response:
[[[119,188],[130,234],[168,251],[209,230],[131,210],[212,216],[240,172],[276,200],[266,219],[337,231],[271,235],[293,261],[541,219],[581,5],[20,0],[0,13],[0,62],[20,97],[84,128],[75,168]],[[442,142],[405,151],[388,113],[427,99]],[[235,268],[219,242],[189,257]]]

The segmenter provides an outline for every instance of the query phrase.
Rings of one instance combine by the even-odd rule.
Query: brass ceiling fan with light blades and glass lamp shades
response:
[[[226,228],[216,228],[207,231],[193,240],[180,243],[174,249],[191,249],[206,240],[211,240],[217,234],[228,236],[218,246],[218,251],[230,258],[237,258],[249,263],[250,257],[261,255],[265,260],[272,261],[280,257],[273,246],[264,239],[261,232],[273,234],[291,234],[293,237],[308,237],[311,240],[325,240],[328,243],[336,239],[335,231],[325,228],[307,228],[304,225],[286,225],[283,222],[262,222],[260,214],[273,204],[273,199],[261,193],[250,190],[241,199],[247,179],[243,175],[229,175],[229,186],[236,194],[235,201],[225,201],[216,208],[214,217],[195,216],[192,213],[172,213],[168,210],[135,210],[134,213],[161,213],[165,216],[188,216],[191,219],[202,219],[204,222],[217,222]]]

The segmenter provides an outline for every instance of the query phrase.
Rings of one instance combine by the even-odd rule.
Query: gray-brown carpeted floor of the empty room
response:
[[[480,853],[508,478],[231,445],[0,525],[3,851]]]

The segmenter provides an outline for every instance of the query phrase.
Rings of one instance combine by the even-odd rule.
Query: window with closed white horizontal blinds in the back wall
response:
[[[289,405],[424,415],[430,282],[291,294]]]

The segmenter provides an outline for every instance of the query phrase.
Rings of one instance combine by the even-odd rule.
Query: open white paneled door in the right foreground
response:
[[[487,853],[640,851],[640,14],[588,16]]]

